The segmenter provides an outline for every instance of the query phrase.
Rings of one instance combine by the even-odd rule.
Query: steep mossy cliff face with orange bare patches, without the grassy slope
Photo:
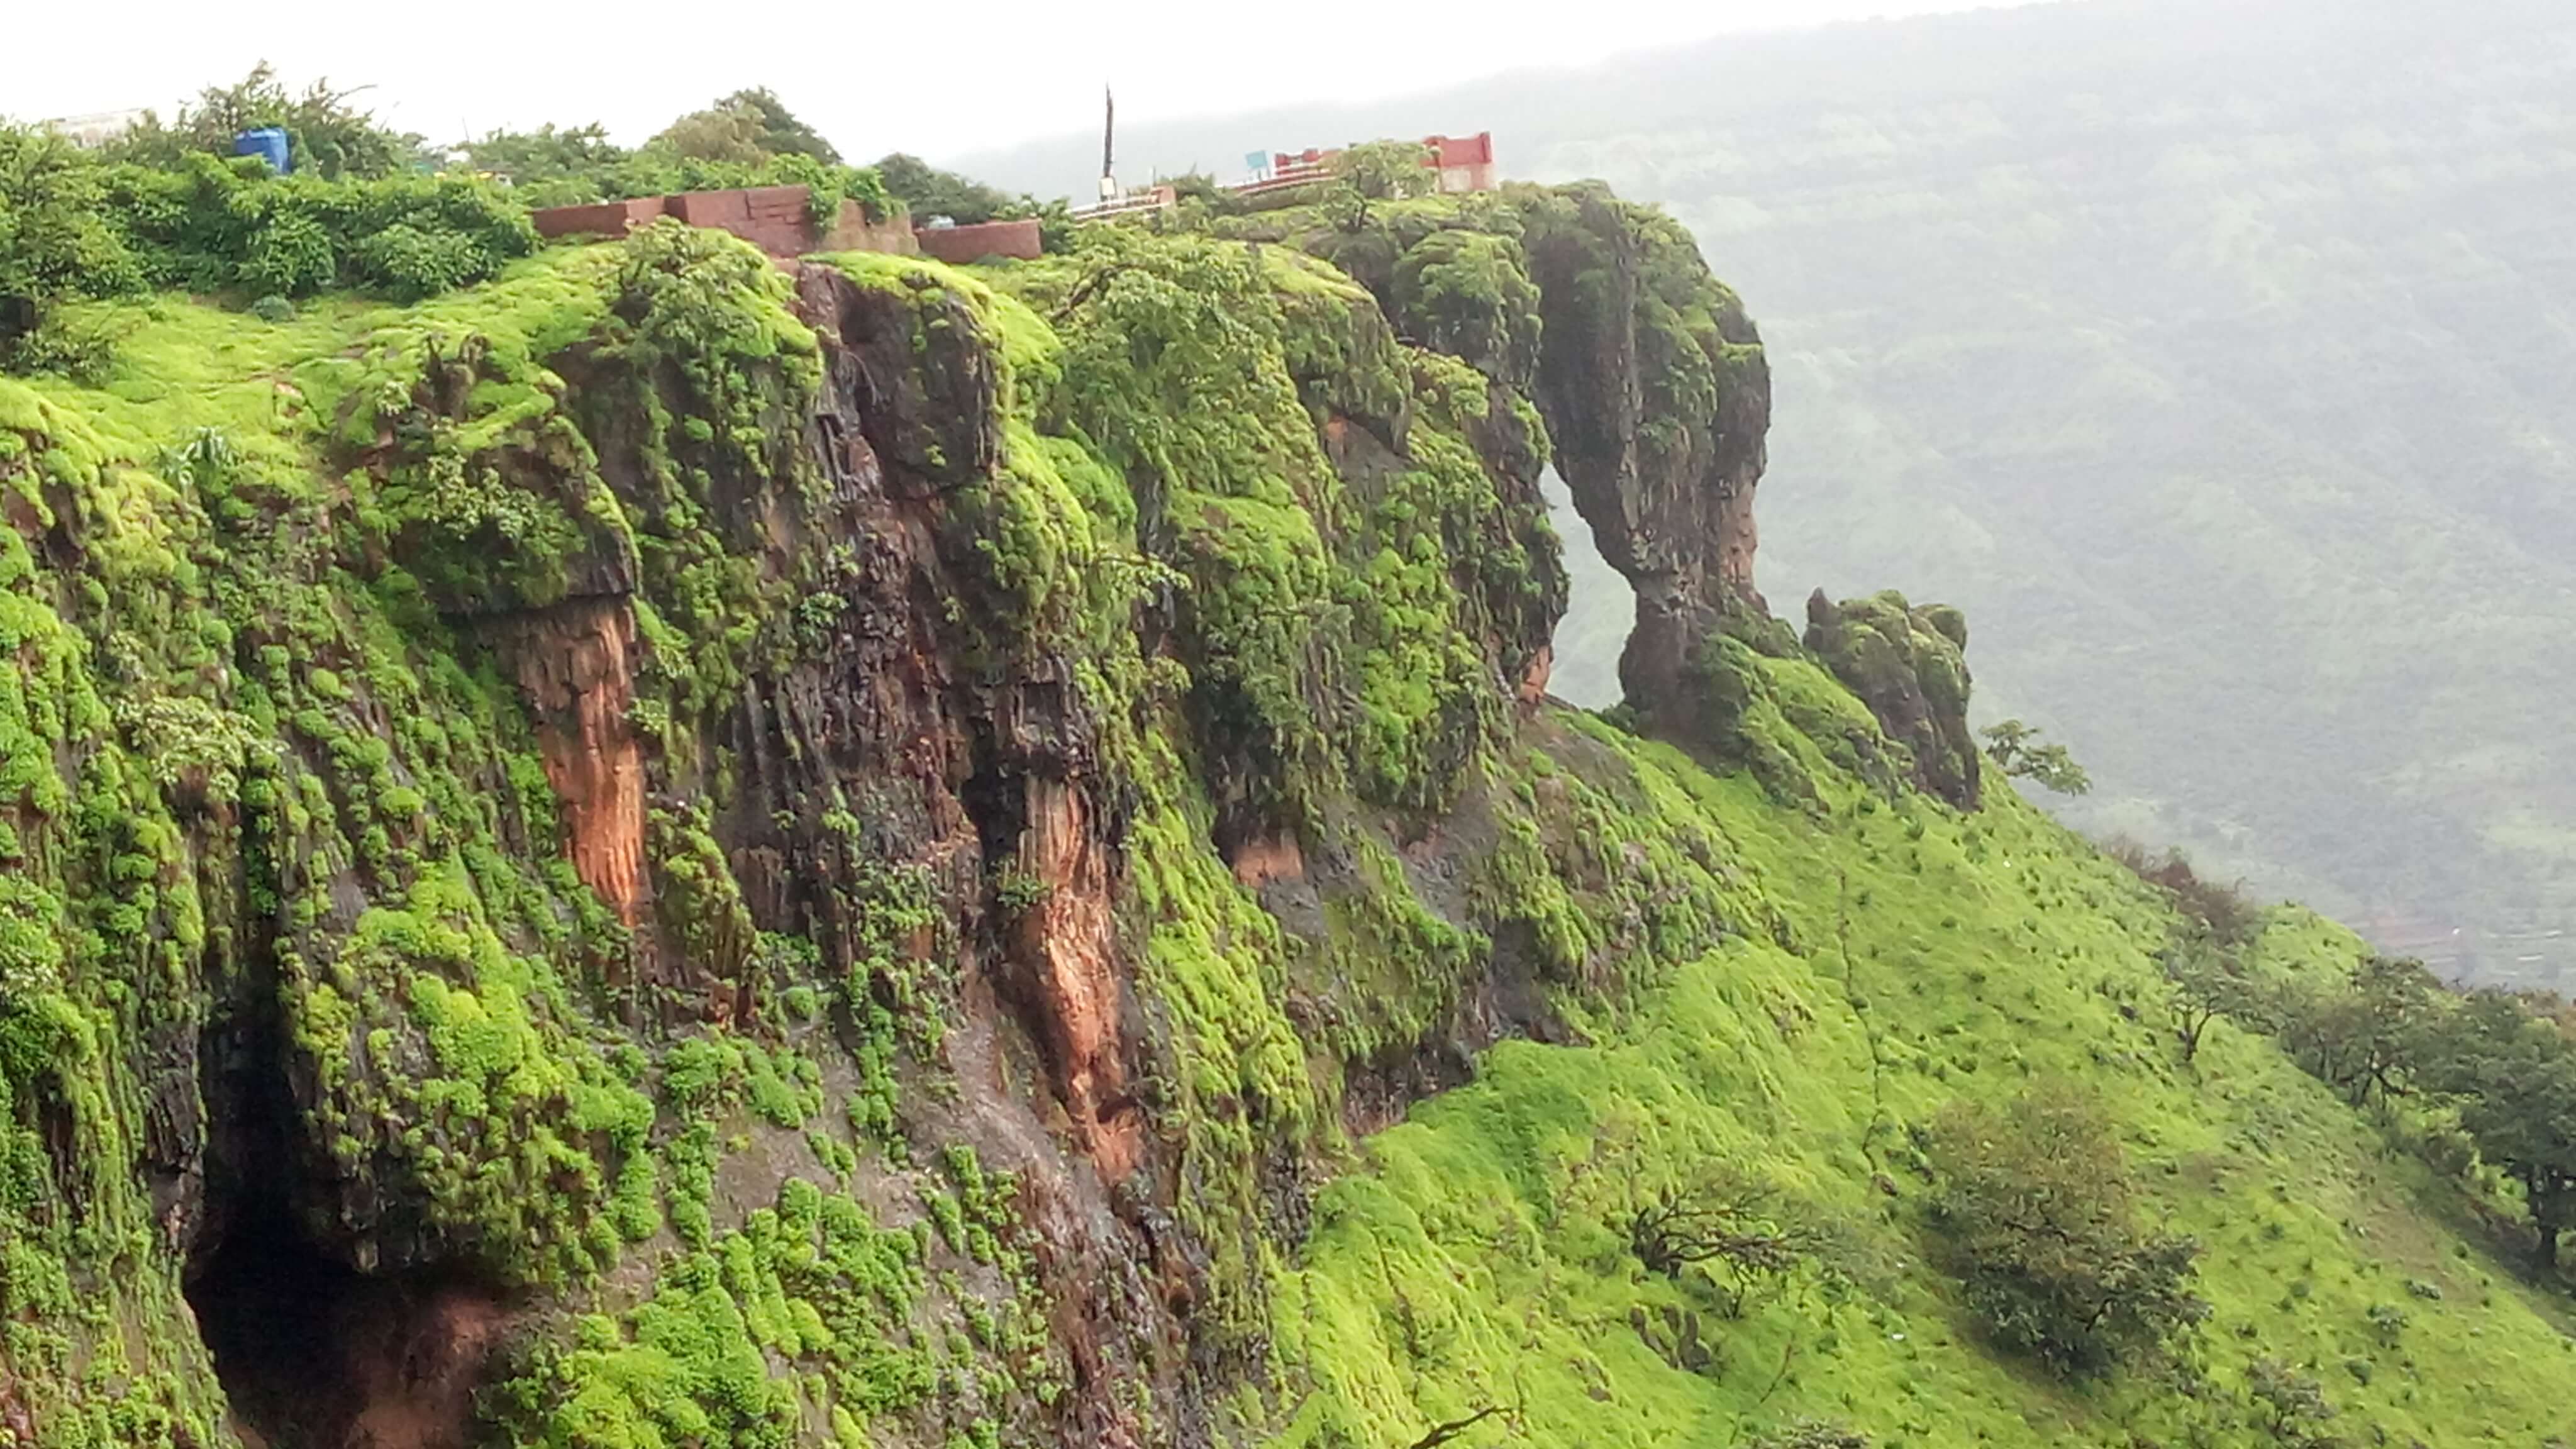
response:
[[[0,384],[0,1444],[1260,1436],[1350,1134],[1770,928],[1494,776],[1551,441],[1710,737],[1741,307],[1597,191],[1270,224]]]

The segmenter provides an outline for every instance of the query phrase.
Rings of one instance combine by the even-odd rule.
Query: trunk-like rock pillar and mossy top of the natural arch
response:
[[[1528,397],[1592,541],[1636,590],[1628,704],[1649,730],[1721,753],[1731,704],[1703,655],[1767,616],[1754,490],[1770,364],[1690,235],[1600,186],[1242,229],[1332,258],[1406,338]]]

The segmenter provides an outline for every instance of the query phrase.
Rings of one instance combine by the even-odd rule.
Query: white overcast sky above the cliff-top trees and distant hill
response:
[[[5,0],[0,0],[5,3]],[[291,85],[374,83],[368,103],[451,142],[495,126],[605,121],[641,142],[677,111],[768,85],[855,160],[948,157],[1097,124],[1100,85],[1136,121],[1288,101],[1365,101],[1497,70],[1579,64],[1741,28],[1971,0],[1553,0],[1301,5],[987,0],[981,5],[670,5],[559,0],[319,10],[39,5],[8,18],[0,116],[155,106],[270,59]],[[613,15],[613,18],[611,18]]]

